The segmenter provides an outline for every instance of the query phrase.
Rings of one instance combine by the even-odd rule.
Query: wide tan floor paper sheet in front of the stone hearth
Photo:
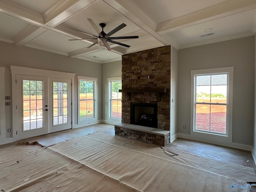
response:
[[[205,162],[182,152],[168,156],[159,146],[100,132],[49,148],[138,191],[248,192],[232,190],[231,185],[255,179],[252,168],[216,160]]]

